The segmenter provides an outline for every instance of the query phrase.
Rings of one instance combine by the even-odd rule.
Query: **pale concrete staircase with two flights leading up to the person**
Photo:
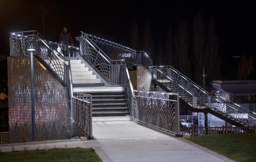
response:
[[[107,87],[81,60],[70,60],[73,91],[92,95],[93,121],[131,120],[123,87]]]

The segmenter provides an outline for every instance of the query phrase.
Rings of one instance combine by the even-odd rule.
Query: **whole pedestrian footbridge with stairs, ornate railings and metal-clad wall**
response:
[[[21,129],[30,133],[33,121],[36,140],[74,135],[93,139],[93,121],[114,120],[132,120],[179,135],[180,104],[235,126],[256,123],[255,112],[207,93],[171,66],[154,66],[143,51],[82,31],[76,40],[79,48],[70,47],[70,57],[63,57],[57,43],[35,30],[11,33],[7,58],[11,141],[20,140]]]

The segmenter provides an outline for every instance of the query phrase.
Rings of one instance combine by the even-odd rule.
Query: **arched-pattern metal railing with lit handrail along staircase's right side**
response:
[[[110,85],[125,86],[127,100],[129,100],[128,103],[130,104],[129,108],[131,110],[133,86],[129,72],[124,70],[127,68],[125,60],[111,60],[89,37],[87,37],[87,34],[81,36],[80,43],[82,44],[82,57],[87,60],[93,68],[98,70]],[[124,82],[124,79],[129,80],[128,78],[130,82]]]

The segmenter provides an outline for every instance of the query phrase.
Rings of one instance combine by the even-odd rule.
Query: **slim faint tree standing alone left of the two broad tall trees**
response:
[[[172,29],[170,28],[167,33],[167,41],[165,44],[165,49],[164,49],[164,58],[165,58],[165,63],[167,65],[171,65],[174,67],[174,52],[173,52],[173,41],[172,41]]]

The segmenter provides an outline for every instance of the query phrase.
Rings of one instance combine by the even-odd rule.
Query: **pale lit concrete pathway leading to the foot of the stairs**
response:
[[[159,133],[131,121],[93,122],[95,140],[47,143],[50,148],[93,148],[102,161],[233,161],[183,138]],[[26,145],[28,150],[44,149],[44,144]],[[23,145],[15,145],[22,150]],[[1,147],[11,151],[10,146]]]

